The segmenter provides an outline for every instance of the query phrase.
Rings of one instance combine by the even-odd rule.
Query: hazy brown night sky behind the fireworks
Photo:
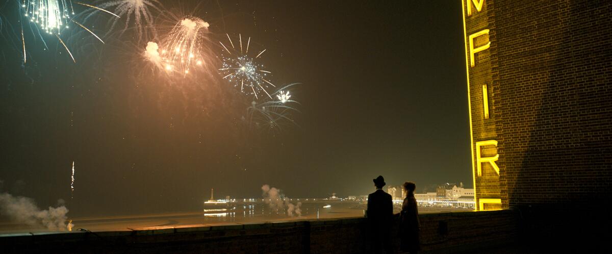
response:
[[[76,64],[53,35],[43,50],[26,29],[23,64],[15,2],[0,6],[0,192],[94,215],[201,209],[211,188],[247,198],[263,184],[366,195],[379,174],[417,192],[472,185],[458,1],[161,1],[209,22],[218,52],[225,33],[252,37],[272,81],[300,83],[297,125],[282,130],[245,123],[252,98],[217,73],[155,78],[146,40],[117,32],[124,21],[106,44],[66,32]],[[109,20],[86,24],[104,35]]]

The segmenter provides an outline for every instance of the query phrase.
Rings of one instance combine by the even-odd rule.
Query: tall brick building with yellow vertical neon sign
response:
[[[516,207],[551,238],[609,228],[612,2],[462,4],[477,209]]]

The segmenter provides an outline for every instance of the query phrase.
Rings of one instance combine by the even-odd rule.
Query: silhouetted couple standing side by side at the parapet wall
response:
[[[383,176],[378,176],[373,181],[376,192],[368,195],[366,212],[371,252],[395,253],[391,237],[394,223],[393,198],[383,190],[384,185],[386,185]],[[406,190],[406,198],[404,198],[399,214],[400,248],[403,252],[417,253],[420,249],[420,224],[417,201],[414,198],[416,185],[414,182],[405,182],[403,188]]]

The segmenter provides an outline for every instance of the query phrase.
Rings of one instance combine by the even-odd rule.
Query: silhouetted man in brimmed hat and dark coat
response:
[[[393,201],[391,195],[384,192],[383,176],[373,179],[376,191],[368,195],[368,237],[374,253],[393,253],[391,245],[391,224],[393,222]]]

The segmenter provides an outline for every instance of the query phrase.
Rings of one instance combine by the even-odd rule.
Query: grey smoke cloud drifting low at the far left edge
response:
[[[50,206],[48,210],[40,210],[31,198],[0,193],[0,214],[17,222],[31,226],[42,225],[49,230],[66,230],[67,213],[65,206]]]

